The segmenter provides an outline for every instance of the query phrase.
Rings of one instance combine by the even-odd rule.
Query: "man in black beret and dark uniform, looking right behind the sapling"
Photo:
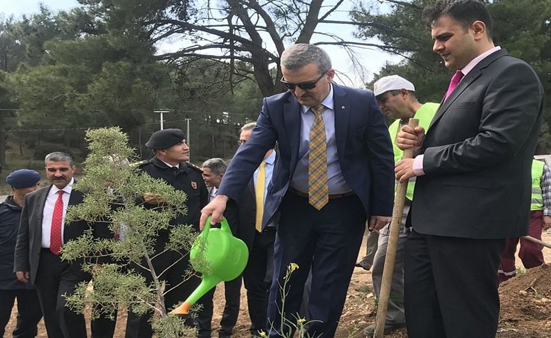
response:
[[[165,180],[167,184],[172,185],[176,190],[185,192],[188,197],[186,201],[188,213],[178,215],[171,220],[170,224],[174,226],[190,224],[198,230],[200,210],[208,203],[209,192],[206,190],[201,169],[187,162],[190,148],[186,143],[183,131],[179,129],[158,130],[151,135],[145,145],[153,150],[155,157],[139,164],[139,169],[153,178]],[[146,194],[144,200],[146,205],[149,204],[152,207],[162,202],[153,194]],[[168,242],[168,237],[169,230],[159,231],[156,243],[157,252],[163,251],[165,244]],[[184,254],[184,259],[181,259],[181,254]],[[181,260],[178,261],[179,259]],[[177,263],[175,263],[176,261]],[[190,277],[186,282],[181,283],[183,273],[190,267],[188,252],[165,252],[153,260],[153,267],[156,271],[163,271],[170,267],[163,274],[163,280],[166,282],[165,289],[174,286],[176,288],[165,295],[167,309],[186,300],[188,295],[199,285],[200,280],[197,276]],[[151,273],[145,270],[141,272],[148,282],[151,282]],[[137,316],[129,312],[126,337],[151,337],[150,318],[151,314]],[[201,312],[199,318],[197,318],[197,323],[199,324],[199,332],[201,332],[202,326],[210,323],[210,318],[202,318]]]

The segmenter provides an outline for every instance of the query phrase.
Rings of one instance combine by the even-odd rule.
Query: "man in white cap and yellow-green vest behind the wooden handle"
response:
[[[398,162],[404,152],[395,144],[396,135],[401,125],[407,124],[409,118],[418,118],[419,125],[428,129],[432,117],[438,109],[437,103],[427,102],[421,104],[415,95],[415,86],[398,75],[390,75],[378,79],[373,84],[373,93],[379,107],[385,116],[395,118],[395,121],[388,128],[391,135],[394,162]],[[400,229],[400,239],[396,250],[396,260],[391,285],[391,295],[388,301],[388,311],[386,312],[386,321],[384,331],[389,332],[394,329],[405,327],[404,315],[404,245],[410,232],[410,227],[406,227],[409,207],[412,205],[415,180],[411,179],[407,187],[407,199],[405,201],[404,212],[402,216],[402,228]],[[386,247],[388,244],[388,225],[379,230],[379,240],[377,252],[373,259],[372,279],[375,295],[379,297],[381,291],[384,259],[386,256]],[[371,236],[371,234],[370,234]],[[375,332],[375,325],[369,325],[365,328],[365,335],[372,337]]]

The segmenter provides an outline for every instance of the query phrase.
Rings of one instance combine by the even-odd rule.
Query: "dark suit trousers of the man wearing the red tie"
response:
[[[66,307],[63,297],[72,294],[80,282],[82,278],[75,276],[69,263],[61,261],[50,249],[40,251],[35,284],[48,338],[86,338],[84,316]]]

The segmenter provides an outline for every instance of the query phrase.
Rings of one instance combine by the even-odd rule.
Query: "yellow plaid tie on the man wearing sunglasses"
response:
[[[327,144],[325,124],[322,118],[324,105],[310,107],[315,114],[310,128],[310,153],[308,155],[308,203],[321,210],[329,201],[327,185]]]

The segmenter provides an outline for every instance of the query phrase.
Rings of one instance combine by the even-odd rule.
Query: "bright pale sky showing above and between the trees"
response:
[[[139,0],[136,0],[139,1]],[[329,4],[335,1],[328,1]],[[47,8],[52,11],[57,10],[70,10],[80,6],[77,0],[0,0],[0,13],[3,13],[5,17],[13,15],[15,19],[19,19],[22,15],[31,15],[38,13],[40,3],[44,3]],[[346,13],[336,13],[337,16],[341,15],[334,20],[347,20]],[[339,35],[349,40],[352,39],[352,26],[349,25],[325,25],[325,29],[338,29]],[[334,33],[334,31],[333,31]],[[316,37],[314,37],[316,39]],[[324,38],[327,40],[327,38]],[[312,42],[316,42],[313,40]],[[174,41],[172,43],[164,43],[158,46],[158,52],[168,52],[177,49],[178,45]],[[396,63],[400,61],[398,56],[392,56],[391,54],[384,53],[378,49],[354,49],[356,51],[356,57],[361,61],[361,65],[365,68],[365,72],[357,72],[352,68],[349,56],[345,52],[345,49],[337,46],[322,46],[326,49],[331,56],[333,62],[333,68],[342,75],[338,76],[337,81],[347,86],[354,86],[356,88],[363,88],[364,83],[372,79],[373,73],[378,72],[386,62]]]

